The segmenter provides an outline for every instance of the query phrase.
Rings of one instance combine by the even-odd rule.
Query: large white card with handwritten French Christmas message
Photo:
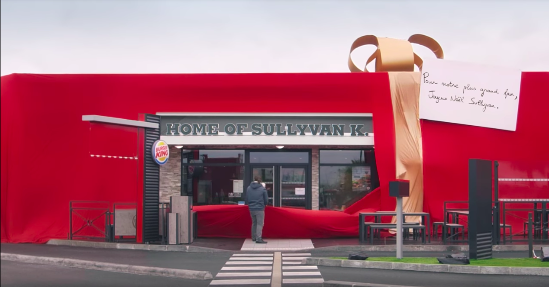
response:
[[[516,131],[520,70],[425,59],[419,118]]]

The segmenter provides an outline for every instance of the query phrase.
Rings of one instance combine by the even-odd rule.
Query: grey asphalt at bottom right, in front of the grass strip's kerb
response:
[[[545,287],[547,277],[431,273],[319,266],[324,280],[421,287]]]

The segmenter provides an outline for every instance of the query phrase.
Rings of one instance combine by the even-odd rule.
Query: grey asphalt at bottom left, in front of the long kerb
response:
[[[51,265],[30,265],[0,261],[2,287],[207,287],[209,281],[133,275],[114,272],[67,268]]]

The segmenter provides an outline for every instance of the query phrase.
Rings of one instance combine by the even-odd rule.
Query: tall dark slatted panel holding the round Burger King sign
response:
[[[146,122],[160,124],[160,116],[145,115]],[[151,153],[154,142],[160,139],[160,130],[145,129],[145,154],[143,155],[143,241],[158,240],[160,226],[158,223],[160,202],[160,166],[156,164]]]

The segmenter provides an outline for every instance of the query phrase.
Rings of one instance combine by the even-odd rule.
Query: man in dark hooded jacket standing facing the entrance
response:
[[[254,182],[250,183],[250,186],[246,189],[245,197],[251,215],[251,239],[255,243],[267,243],[261,238],[261,233],[263,232],[265,206],[268,204],[268,200],[267,189],[261,184],[261,177],[256,176]]]

